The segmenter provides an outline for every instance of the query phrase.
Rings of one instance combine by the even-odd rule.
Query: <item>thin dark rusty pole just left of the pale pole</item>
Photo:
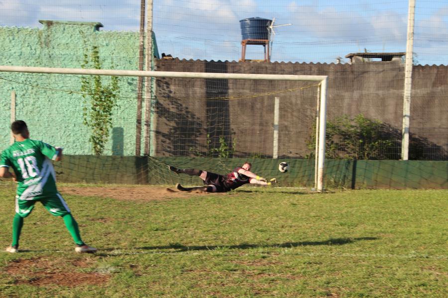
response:
[[[138,70],[143,71],[145,42],[145,0],[140,2],[140,40],[138,44]],[[141,100],[143,89],[143,76],[137,80],[137,120],[135,126],[135,156],[141,154]]]

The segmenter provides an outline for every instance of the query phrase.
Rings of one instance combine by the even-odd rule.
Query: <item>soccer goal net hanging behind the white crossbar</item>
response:
[[[249,161],[253,172],[280,185],[323,188],[324,157],[319,165],[314,156],[326,76],[1,70],[10,90],[3,127],[24,120],[31,138],[64,147],[56,167],[62,181],[193,184],[167,165],[224,174]],[[139,95],[143,74],[151,79]],[[9,134],[3,139],[7,144]],[[280,173],[281,161],[295,170]]]

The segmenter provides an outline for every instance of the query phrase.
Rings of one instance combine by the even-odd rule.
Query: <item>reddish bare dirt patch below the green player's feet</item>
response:
[[[109,274],[78,272],[79,268],[88,268],[94,262],[95,260],[89,258],[68,263],[65,259],[49,260],[45,257],[18,259],[6,267],[6,272],[14,277],[14,284],[17,285],[76,287],[106,284],[110,279]]]

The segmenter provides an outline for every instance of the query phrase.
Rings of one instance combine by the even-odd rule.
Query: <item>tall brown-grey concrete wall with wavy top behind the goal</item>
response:
[[[210,68],[210,64],[210,62],[204,61],[160,60],[157,62],[157,70],[206,72]],[[401,142],[404,83],[404,66],[401,63],[373,62],[348,65],[217,62],[215,64],[217,70],[225,69],[227,73],[328,75],[328,119],[334,119],[344,114],[351,117],[363,114],[369,119],[383,122],[389,130],[390,138],[396,140],[397,144]],[[446,66],[416,66],[414,70],[411,146],[418,144],[420,147],[426,148],[428,159],[443,159],[447,156],[447,73],[448,67]],[[186,146],[185,144],[194,144],[192,140],[187,140],[190,135],[195,138],[195,142],[201,143],[194,144],[195,146],[204,148],[205,135],[210,130],[207,122],[210,110],[207,109],[206,100],[202,100],[207,98],[207,87],[198,86],[195,90],[188,90],[187,95],[184,96],[182,92],[185,90],[185,86],[183,86],[185,80],[164,78],[157,81],[158,85],[169,86],[170,92],[173,92],[172,96],[167,98],[166,94],[158,89],[157,95],[160,104],[166,107],[170,103],[176,105],[182,102],[183,106],[179,112],[188,112],[188,119],[198,122],[195,133],[192,134],[180,130],[176,118],[165,117],[165,122],[158,126],[158,130],[161,132],[158,139],[158,155],[172,155],[181,150],[182,146]],[[261,82],[255,80],[239,81],[238,83],[228,80],[224,83],[228,86],[227,96],[262,94],[267,90],[287,90],[313,84],[312,82]],[[164,92],[166,93],[166,91]],[[237,140],[238,152],[236,155],[247,156],[247,154],[250,155],[250,152],[255,151],[268,157],[272,156],[274,96],[280,96],[279,156],[304,157],[310,153],[306,141],[312,134],[316,111],[316,87],[278,93],[277,95],[256,96],[256,100],[254,98],[228,100],[228,117],[230,119],[228,135]],[[197,100],[189,102],[183,98]],[[166,110],[159,112],[162,118],[169,114]],[[169,123],[170,119],[171,123]],[[179,131],[176,132],[173,128],[177,128]],[[172,141],[172,138],[179,139],[181,136],[186,138],[184,144]],[[396,150],[401,147],[400,144],[396,146]],[[443,154],[445,157],[442,156]]]

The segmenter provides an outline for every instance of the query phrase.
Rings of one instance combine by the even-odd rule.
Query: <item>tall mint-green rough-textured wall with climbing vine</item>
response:
[[[138,32],[99,31],[102,25],[95,22],[40,22],[42,29],[0,27],[0,65],[81,68],[85,49],[98,46],[104,69],[138,70]],[[154,53],[158,56],[157,47]],[[15,119],[27,122],[31,138],[64,147],[66,154],[92,153],[83,125],[83,98],[76,93],[80,76],[0,73],[0,78],[0,150],[9,145],[14,90]],[[135,153],[136,80],[119,78],[120,98],[105,154]]]

